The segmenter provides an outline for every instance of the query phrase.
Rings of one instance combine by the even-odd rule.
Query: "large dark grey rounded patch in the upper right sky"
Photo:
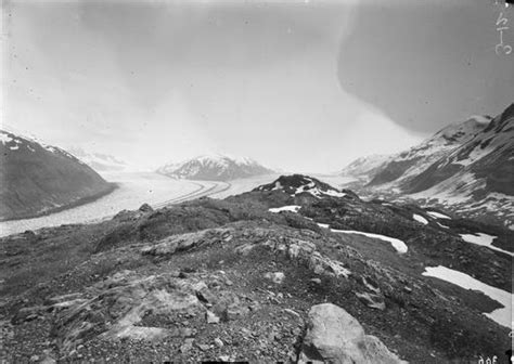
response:
[[[514,53],[494,52],[500,11],[514,23],[490,1],[365,3],[339,48],[340,84],[419,132],[498,114],[514,96]]]

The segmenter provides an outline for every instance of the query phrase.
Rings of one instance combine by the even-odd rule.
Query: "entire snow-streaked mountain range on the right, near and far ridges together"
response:
[[[408,151],[358,159],[343,176],[375,197],[412,198],[514,227],[514,104],[451,125]],[[370,167],[371,166],[371,167]]]

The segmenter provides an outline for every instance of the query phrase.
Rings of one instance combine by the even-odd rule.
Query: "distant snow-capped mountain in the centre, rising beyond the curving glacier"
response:
[[[204,155],[181,164],[171,162],[157,169],[157,172],[178,179],[206,181],[229,181],[273,173],[250,158],[221,154]]]

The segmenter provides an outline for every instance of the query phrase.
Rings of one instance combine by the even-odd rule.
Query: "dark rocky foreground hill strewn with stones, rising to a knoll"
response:
[[[504,360],[510,330],[484,314],[501,304],[422,273],[445,265],[511,291],[512,257],[460,234],[493,234],[512,251],[512,232],[429,212],[293,176],[224,200],[2,238],[0,358]]]

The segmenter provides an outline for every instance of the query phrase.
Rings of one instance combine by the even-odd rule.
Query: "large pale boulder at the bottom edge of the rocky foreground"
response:
[[[309,311],[307,334],[298,363],[398,364],[407,363],[382,341],[365,335],[359,322],[342,308],[323,303]]]

